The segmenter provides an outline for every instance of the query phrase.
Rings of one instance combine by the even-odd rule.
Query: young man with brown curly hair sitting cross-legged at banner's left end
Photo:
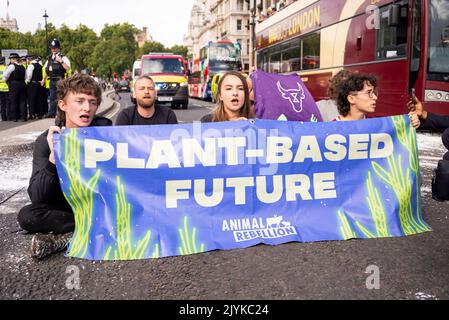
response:
[[[75,74],[57,84],[58,116],[67,128],[110,126],[106,118],[95,117],[101,103],[101,88],[88,75]],[[28,187],[31,205],[18,214],[22,229],[33,236],[32,256],[37,259],[62,251],[75,227],[73,211],[65,199],[55,166],[53,135],[61,127],[51,126],[34,145],[33,171]]]

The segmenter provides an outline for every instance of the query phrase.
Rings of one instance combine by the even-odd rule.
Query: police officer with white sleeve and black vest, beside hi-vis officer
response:
[[[18,62],[20,56],[17,53],[11,53],[9,56],[10,64],[3,74],[3,80],[9,87],[9,116],[11,120],[17,122],[19,118],[27,121],[26,109],[26,91],[25,91],[25,68]]]

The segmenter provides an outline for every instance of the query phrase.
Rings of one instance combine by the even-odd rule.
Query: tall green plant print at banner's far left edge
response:
[[[81,144],[77,130],[71,129],[65,136],[64,159],[70,181],[68,195],[64,194],[75,216],[75,232],[68,253],[71,257],[84,258],[89,246],[89,233],[92,227],[93,192],[100,178],[100,170],[84,183],[81,177]]]

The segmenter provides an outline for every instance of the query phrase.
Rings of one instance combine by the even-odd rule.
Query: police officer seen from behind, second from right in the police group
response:
[[[28,56],[30,63],[28,64],[25,81],[28,83],[28,104],[30,107],[30,118],[42,118],[41,112],[42,87],[41,81],[42,66],[37,61],[37,56]]]

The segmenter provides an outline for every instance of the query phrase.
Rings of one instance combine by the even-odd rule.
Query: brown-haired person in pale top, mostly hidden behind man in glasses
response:
[[[329,87],[327,89],[329,99],[319,100],[316,102],[323,121],[332,121],[338,117],[337,98],[338,92],[340,91],[339,87],[351,74],[352,73],[350,71],[343,69],[329,80]]]

